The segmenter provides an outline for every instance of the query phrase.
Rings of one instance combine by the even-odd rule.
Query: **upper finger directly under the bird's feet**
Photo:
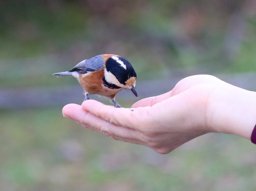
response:
[[[95,100],[87,100],[82,103],[82,107],[91,114],[108,121],[116,126],[123,126],[132,129],[143,127],[142,123],[146,112],[131,111],[127,108],[115,108],[113,106],[104,105]],[[140,108],[139,110],[142,110]],[[138,110],[138,109],[136,109]],[[145,110],[145,109],[144,109]]]

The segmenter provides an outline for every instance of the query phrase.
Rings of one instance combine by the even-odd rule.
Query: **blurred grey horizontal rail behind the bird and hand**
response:
[[[195,74],[195,73],[194,73]],[[193,73],[181,72],[179,74],[171,74],[166,79],[138,81],[136,90],[139,99],[159,95],[171,90],[175,84],[186,76]],[[256,90],[256,72],[241,74],[223,74],[215,75],[232,85],[248,89]],[[80,85],[63,86],[54,88],[23,88],[19,89],[0,89],[0,109],[4,108],[22,108],[22,107],[38,107],[38,106],[60,106],[68,103],[82,103],[84,97],[82,95]],[[97,96],[90,96],[97,99]],[[130,91],[121,91],[117,94],[118,100],[137,101],[138,99]]]

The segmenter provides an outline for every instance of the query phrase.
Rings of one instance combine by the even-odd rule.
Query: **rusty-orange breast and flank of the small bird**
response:
[[[98,70],[96,72],[90,72],[86,74],[80,74],[79,83],[83,87],[84,91],[89,94],[97,94],[113,99],[115,95],[122,90],[110,89],[102,85],[102,78],[104,77],[104,70]]]

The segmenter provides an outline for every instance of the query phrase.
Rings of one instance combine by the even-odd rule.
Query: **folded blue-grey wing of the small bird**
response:
[[[102,54],[86,59],[73,67],[70,72],[77,71],[79,73],[94,72],[103,68],[104,60]]]

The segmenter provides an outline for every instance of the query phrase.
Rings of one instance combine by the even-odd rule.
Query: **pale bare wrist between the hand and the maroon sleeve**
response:
[[[216,87],[210,95],[208,109],[213,132],[251,139],[256,124],[256,92],[230,84]]]

